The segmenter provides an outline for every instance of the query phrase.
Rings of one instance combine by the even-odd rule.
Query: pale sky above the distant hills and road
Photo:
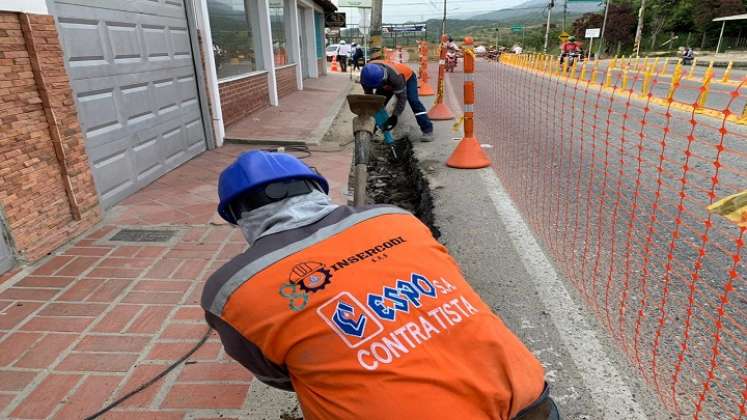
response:
[[[446,0],[446,16],[462,18],[525,2],[526,0]],[[443,7],[443,0],[384,0],[382,20],[384,23],[404,23],[440,18],[443,16]],[[343,7],[339,11],[346,13],[348,24],[359,23],[357,9]]]

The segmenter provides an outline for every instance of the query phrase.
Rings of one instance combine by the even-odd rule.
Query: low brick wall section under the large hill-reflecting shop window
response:
[[[270,106],[266,73],[221,83],[218,92],[225,125]]]

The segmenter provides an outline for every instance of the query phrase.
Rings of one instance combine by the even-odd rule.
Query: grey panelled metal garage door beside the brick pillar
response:
[[[49,0],[108,208],[206,149],[184,0]]]

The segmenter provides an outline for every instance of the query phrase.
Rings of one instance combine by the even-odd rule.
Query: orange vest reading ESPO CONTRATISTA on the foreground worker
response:
[[[345,211],[211,278],[221,290],[203,300],[287,368],[304,418],[510,419],[540,396],[540,363],[425,225],[392,207]]]

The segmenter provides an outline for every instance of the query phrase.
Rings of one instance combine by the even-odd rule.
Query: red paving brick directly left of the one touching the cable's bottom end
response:
[[[77,385],[81,375],[50,374],[11,413],[14,417],[42,419],[49,416],[67,393]]]

